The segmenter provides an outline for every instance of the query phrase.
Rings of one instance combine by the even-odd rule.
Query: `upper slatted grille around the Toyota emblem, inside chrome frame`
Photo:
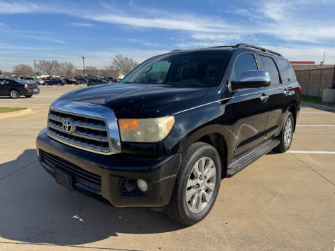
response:
[[[66,132],[63,123],[70,119],[73,131]],[[47,134],[59,141],[96,153],[110,153],[110,140],[105,121],[84,114],[73,114],[50,109],[47,119]]]

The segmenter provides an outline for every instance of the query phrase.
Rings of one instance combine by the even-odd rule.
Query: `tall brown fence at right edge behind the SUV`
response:
[[[302,94],[322,97],[324,89],[335,88],[335,67],[311,70],[295,70]]]

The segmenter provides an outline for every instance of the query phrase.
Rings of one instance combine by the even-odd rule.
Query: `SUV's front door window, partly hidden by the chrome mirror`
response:
[[[246,70],[258,70],[253,54],[241,54],[234,63],[232,69],[232,81],[239,81]]]

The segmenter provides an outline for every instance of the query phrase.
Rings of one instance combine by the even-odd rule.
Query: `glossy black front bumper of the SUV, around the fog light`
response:
[[[117,153],[100,155],[90,153],[71,146],[61,144],[47,136],[46,128],[36,139],[36,150],[40,164],[54,176],[54,168],[44,159],[44,154],[50,154],[57,160],[75,165],[84,169],[84,172],[101,177],[101,188],[91,188],[87,183],[77,180],[74,183],[76,190],[89,191],[101,196],[115,207],[161,207],[169,203],[174,188],[174,181],[181,163],[181,155],[168,155],[158,158],[143,158],[141,156]],[[121,182],[128,179],[144,179],[149,183],[148,192],[144,195],[121,194]],[[78,188],[78,189],[77,189]]]

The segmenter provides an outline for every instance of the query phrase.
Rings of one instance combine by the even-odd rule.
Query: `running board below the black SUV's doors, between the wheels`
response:
[[[274,149],[280,141],[278,139],[269,139],[266,142],[262,142],[258,146],[253,147],[251,150],[246,153],[242,153],[237,158],[234,158],[227,170],[227,177],[231,177],[234,174],[237,174],[239,171],[250,165],[252,162],[258,160],[266,153],[269,153]]]

